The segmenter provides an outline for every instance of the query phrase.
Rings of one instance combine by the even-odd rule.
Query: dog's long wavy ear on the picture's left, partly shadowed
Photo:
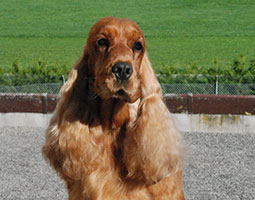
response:
[[[61,175],[72,178],[80,177],[80,170],[78,170],[80,162],[77,161],[80,156],[78,156],[76,162],[70,162],[71,158],[68,157],[70,155],[67,152],[68,148],[74,148],[77,142],[74,139],[75,137],[70,137],[72,131],[81,129],[81,124],[73,121],[78,119],[77,110],[80,105],[77,102],[80,100],[79,90],[82,87],[85,90],[83,92],[86,93],[88,85],[88,58],[85,48],[83,55],[73,66],[68,80],[60,90],[56,111],[46,131],[46,143],[43,146],[43,154],[45,158],[49,159],[51,165]],[[79,135],[79,131],[77,134]]]

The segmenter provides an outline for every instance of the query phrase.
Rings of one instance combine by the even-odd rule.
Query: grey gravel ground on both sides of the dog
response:
[[[254,200],[255,135],[183,133],[186,199]],[[1,128],[0,199],[67,199],[41,154],[42,128]]]

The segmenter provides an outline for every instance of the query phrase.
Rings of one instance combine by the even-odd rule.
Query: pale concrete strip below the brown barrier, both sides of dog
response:
[[[0,127],[48,126],[52,114],[0,113]],[[255,116],[172,114],[176,128],[181,132],[255,133]]]

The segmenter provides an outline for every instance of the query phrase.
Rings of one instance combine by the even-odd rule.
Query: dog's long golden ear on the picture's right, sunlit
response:
[[[123,162],[128,179],[153,184],[180,170],[182,142],[147,55],[142,61],[140,78],[138,118],[123,141]]]

